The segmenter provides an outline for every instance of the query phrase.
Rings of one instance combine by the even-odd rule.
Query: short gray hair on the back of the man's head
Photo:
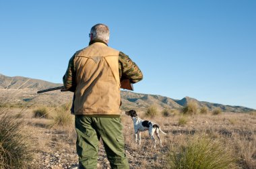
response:
[[[109,29],[107,25],[98,23],[94,25],[91,29],[92,40],[103,40],[108,42],[109,40]]]

